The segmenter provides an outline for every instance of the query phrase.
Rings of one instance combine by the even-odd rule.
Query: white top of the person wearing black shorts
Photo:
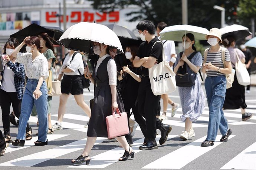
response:
[[[81,72],[81,74],[83,74],[83,57],[82,57],[82,54],[80,53],[77,53],[73,60],[71,61],[72,59],[72,55],[66,55],[66,58],[65,60],[63,61],[62,63],[62,66],[60,68],[60,72],[59,74],[65,74],[65,75],[80,75],[79,72],[78,72],[78,69],[79,71]],[[70,63],[71,61],[71,63]],[[63,69],[65,68],[69,68],[72,70],[72,72],[62,72]]]

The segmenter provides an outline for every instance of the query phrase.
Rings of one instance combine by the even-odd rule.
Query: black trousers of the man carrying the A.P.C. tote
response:
[[[151,90],[148,76],[142,77],[138,90],[138,112],[146,119],[148,140],[155,140],[157,130],[162,125],[161,120],[156,118],[160,95],[155,96]]]

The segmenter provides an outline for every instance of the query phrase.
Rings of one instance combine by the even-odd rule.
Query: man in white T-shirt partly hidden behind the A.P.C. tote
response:
[[[160,22],[157,24],[157,36],[161,39],[160,32],[167,27],[167,24],[164,22]],[[170,40],[163,40],[164,43],[164,54],[165,54],[165,60],[169,62],[170,67],[173,67],[173,64],[176,61],[175,57],[175,44],[174,41]],[[167,119],[166,113],[167,113],[167,105],[168,103],[172,106],[171,109],[171,117],[173,117],[176,114],[176,111],[178,107],[180,106],[178,103],[174,103],[169,97],[168,94],[161,95],[161,98],[163,99],[163,114],[162,117]],[[160,116],[160,115],[158,115]]]

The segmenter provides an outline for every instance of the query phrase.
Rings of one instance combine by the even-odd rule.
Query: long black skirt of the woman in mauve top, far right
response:
[[[223,105],[223,109],[245,109],[247,107],[245,103],[245,89],[243,85],[240,85],[234,75],[234,82],[232,88],[226,90],[226,97]]]

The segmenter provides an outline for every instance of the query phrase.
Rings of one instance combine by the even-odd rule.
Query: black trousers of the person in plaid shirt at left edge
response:
[[[0,89],[0,106],[2,110],[2,121],[4,128],[4,135],[10,136],[10,107],[11,104],[13,106],[14,115],[19,119],[20,118],[20,110],[21,110],[21,102],[17,97],[17,92],[6,92],[3,89]],[[27,123],[26,132],[29,132],[29,123]]]

